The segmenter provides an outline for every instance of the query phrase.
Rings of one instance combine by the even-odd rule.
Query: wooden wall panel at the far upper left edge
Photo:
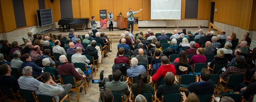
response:
[[[1,4],[1,8],[4,8],[2,9],[4,32],[8,32],[8,31],[12,31],[13,29],[16,29],[12,1],[1,0],[0,4]]]

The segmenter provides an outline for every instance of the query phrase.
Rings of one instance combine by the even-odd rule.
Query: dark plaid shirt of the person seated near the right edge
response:
[[[228,75],[231,74],[238,74],[245,76],[247,69],[245,67],[237,67],[237,66],[230,66],[228,69],[221,75],[222,78],[226,78]]]

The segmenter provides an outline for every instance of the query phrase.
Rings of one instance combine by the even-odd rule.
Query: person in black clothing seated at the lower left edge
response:
[[[0,65],[0,71],[0,86],[12,88],[13,92],[16,93],[20,87],[17,79],[11,76],[11,67],[7,64],[2,64]]]

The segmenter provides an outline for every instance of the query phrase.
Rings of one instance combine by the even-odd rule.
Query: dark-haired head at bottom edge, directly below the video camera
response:
[[[100,93],[101,101],[104,102],[113,102],[114,96],[109,88],[106,88],[105,91],[101,91]]]

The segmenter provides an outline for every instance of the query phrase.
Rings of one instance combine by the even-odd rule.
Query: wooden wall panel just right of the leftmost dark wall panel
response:
[[[36,10],[39,9],[38,1],[27,0],[23,1],[26,16],[27,27],[37,25]]]

